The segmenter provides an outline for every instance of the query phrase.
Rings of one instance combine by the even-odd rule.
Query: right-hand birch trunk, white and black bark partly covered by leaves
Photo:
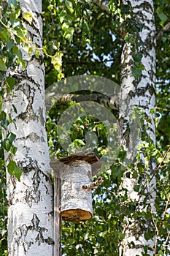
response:
[[[137,146],[142,143],[142,138],[135,135],[133,121],[131,120],[131,113],[133,113],[136,107],[143,112],[142,116],[136,116],[136,122],[143,118],[144,124],[148,123],[147,136],[155,144],[155,122],[154,116],[150,110],[155,109],[155,23],[153,15],[153,2],[152,0],[140,0],[140,1],[124,1],[125,4],[131,3],[132,10],[134,12],[134,18],[136,23],[142,23],[143,29],[139,32],[139,39],[142,40],[141,46],[134,46],[130,42],[125,42],[122,52],[122,84],[120,92],[120,138],[121,143],[127,151],[127,158],[133,161],[137,152]],[[144,69],[142,75],[134,79],[132,75],[132,67],[134,65],[133,54],[142,53],[142,64]],[[135,121],[135,120],[134,120]],[[142,122],[140,122],[142,124]],[[141,132],[142,127],[139,127]],[[147,139],[147,138],[146,138]],[[141,156],[141,161],[144,162],[144,157]],[[150,162],[150,170],[147,173],[150,177],[154,170],[154,161]],[[132,170],[133,172],[133,170]],[[123,188],[127,189],[129,201],[139,201],[141,203],[140,210],[144,211],[142,206],[142,197],[139,197],[139,193],[134,191],[134,185],[136,180],[131,177],[123,178]],[[148,177],[148,176],[147,176]],[[155,179],[152,178],[150,184],[146,189],[146,193],[150,194],[150,206],[152,211],[154,210],[154,197],[155,197]],[[150,223],[147,220],[141,222],[138,219],[125,219],[125,238],[120,246],[121,256],[130,255],[142,255],[144,252],[144,246],[148,246],[148,255],[153,255],[154,241],[152,238],[146,240],[144,233],[150,230]]]

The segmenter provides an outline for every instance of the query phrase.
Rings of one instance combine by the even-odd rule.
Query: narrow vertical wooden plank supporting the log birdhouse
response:
[[[54,175],[54,252],[53,256],[61,256],[61,180]]]

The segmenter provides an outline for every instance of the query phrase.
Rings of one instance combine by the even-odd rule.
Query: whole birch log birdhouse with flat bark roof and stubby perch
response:
[[[91,182],[100,170],[101,162],[95,153],[79,152],[51,162],[55,175],[61,182],[60,215],[63,220],[82,221],[93,215],[92,191],[102,178]]]

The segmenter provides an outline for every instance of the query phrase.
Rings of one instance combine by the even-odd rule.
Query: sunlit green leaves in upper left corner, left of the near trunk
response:
[[[0,80],[3,80],[4,72],[9,67],[24,61],[18,45],[27,41],[27,31],[20,20],[20,7],[18,1],[1,1],[0,19]],[[10,86],[10,85],[9,85]]]

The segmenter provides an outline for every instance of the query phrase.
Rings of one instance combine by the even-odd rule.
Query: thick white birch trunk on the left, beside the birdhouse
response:
[[[20,0],[21,14],[31,12],[26,22],[30,40],[42,48],[42,3]],[[42,53],[36,58],[23,52],[26,69],[10,69],[16,80],[13,97],[4,110],[15,124],[8,132],[16,135],[15,162],[23,170],[20,182],[7,173],[9,256],[53,255],[53,189],[45,130],[45,67]],[[15,109],[12,107],[15,106]],[[9,162],[9,154],[5,155]]]

